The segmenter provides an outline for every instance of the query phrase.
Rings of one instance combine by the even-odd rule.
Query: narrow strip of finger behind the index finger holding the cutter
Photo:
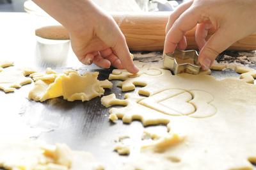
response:
[[[180,15],[182,13],[184,13],[191,6],[192,3],[193,3],[193,0],[187,1],[186,3],[182,3],[179,5],[179,7],[174,12],[171,13],[171,15],[168,19],[168,22],[166,24],[166,29],[165,29],[166,35],[167,35],[168,31],[170,30],[170,28],[172,27],[175,20],[177,20],[180,17]]]

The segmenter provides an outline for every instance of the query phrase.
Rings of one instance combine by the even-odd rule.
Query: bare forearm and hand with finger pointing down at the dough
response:
[[[103,68],[113,65],[131,73],[139,71],[115,20],[92,1],[33,1],[67,28],[72,49],[82,63]]]

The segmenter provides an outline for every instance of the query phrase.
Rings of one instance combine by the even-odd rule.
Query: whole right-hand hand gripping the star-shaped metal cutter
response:
[[[186,49],[187,31],[196,26],[195,40],[200,50],[202,68],[209,68],[214,59],[232,43],[256,31],[255,0],[194,0],[181,4],[170,15],[166,26],[164,52]],[[216,32],[209,39],[209,29]]]

